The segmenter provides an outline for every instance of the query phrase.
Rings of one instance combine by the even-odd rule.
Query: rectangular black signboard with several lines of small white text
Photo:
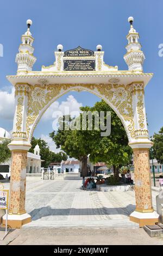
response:
[[[65,71],[95,71],[95,60],[64,60]]]

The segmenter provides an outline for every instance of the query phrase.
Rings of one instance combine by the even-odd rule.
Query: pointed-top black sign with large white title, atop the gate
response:
[[[84,56],[93,56],[94,52],[91,50],[84,49],[78,46],[75,49],[65,51],[65,57],[84,57]]]

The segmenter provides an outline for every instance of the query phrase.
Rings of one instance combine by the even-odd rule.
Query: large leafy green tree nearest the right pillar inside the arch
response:
[[[101,131],[96,133],[96,140],[93,141],[90,153],[91,162],[105,162],[108,166],[113,166],[115,178],[118,179],[119,168],[131,163],[133,151],[128,145],[128,137],[123,124],[117,114],[105,102],[96,102],[95,106],[89,108],[90,111],[110,111],[111,113],[111,133],[109,136],[101,136]],[[87,107],[81,107],[82,111],[88,111]],[[106,114],[105,114],[106,118]]]

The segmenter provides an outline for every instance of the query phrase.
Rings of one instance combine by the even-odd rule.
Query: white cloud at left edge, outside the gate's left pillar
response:
[[[11,93],[0,90],[0,118],[8,120],[14,118],[14,92],[14,87],[12,87]]]

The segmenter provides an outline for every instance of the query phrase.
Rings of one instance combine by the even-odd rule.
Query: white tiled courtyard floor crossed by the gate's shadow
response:
[[[26,210],[32,222],[23,229],[138,227],[128,217],[135,209],[134,191],[83,191],[81,184],[82,180],[28,178]],[[4,187],[8,188],[9,184]]]

